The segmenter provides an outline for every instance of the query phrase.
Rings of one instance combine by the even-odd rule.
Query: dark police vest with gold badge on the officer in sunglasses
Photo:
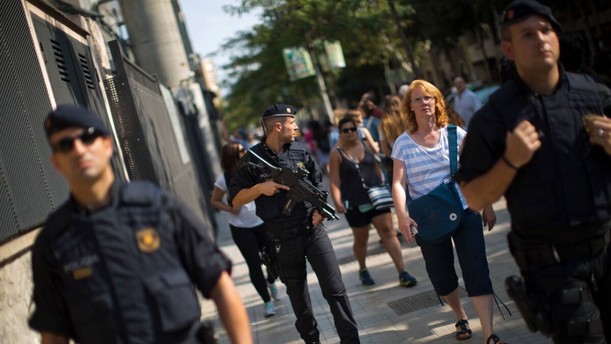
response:
[[[57,267],[76,342],[195,342],[185,334],[199,323],[199,302],[161,189],[148,182],[113,189],[107,208],[87,214],[68,201],[45,228],[46,259]]]

